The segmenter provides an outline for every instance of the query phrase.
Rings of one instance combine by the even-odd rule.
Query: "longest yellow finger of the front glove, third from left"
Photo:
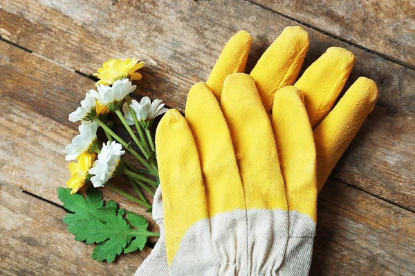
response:
[[[287,210],[273,129],[254,79],[243,73],[226,77],[221,108],[232,137],[246,208]]]

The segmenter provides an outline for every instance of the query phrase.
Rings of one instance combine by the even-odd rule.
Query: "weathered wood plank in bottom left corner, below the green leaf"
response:
[[[0,185],[1,275],[132,275],[151,249],[91,259],[94,246],[76,242],[62,221],[66,211],[17,188]]]

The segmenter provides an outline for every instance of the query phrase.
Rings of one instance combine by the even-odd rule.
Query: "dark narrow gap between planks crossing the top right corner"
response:
[[[335,35],[335,34],[332,34],[332,33],[330,33],[330,32],[327,32],[327,31],[323,30],[323,29],[317,28],[316,26],[313,26],[313,25],[311,25],[310,23],[306,23],[306,22],[301,21],[301,20],[299,20],[299,19],[295,19],[294,17],[291,17],[291,16],[289,16],[289,15],[287,15],[287,14],[283,14],[282,12],[278,12],[277,10],[273,10],[273,9],[271,9],[271,8],[268,8],[268,7],[266,7],[266,6],[263,6],[263,5],[261,5],[261,4],[257,3],[257,2],[255,2],[254,0],[245,0],[245,1],[247,1],[248,3],[251,3],[252,5],[255,5],[255,6],[259,7],[259,8],[262,8],[262,9],[264,9],[264,10],[268,10],[269,12],[273,12],[273,13],[275,13],[275,14],[278,14],[280,17],[284,17],[284,18],[286,18],[286,19],[290,19],[290,20],[292,20],[292,21],[295,21],[296,23],[299,23],[299,24],[301,24],[301,25],[304,25],[304,26],[306,26],[306,27],[308,27],[308,28],[311,28],[311,29],[313,29],[313,30],[315,30],[315,31],[317,31],[317,32],[321,32],[322,34],[325,34],[325,35],[326,35],[326,36],[328,36],[328,37],[331,37],[331,38],[336,39],[336,40],[338,40],[338,41],[342,41],[342,42],[344,42],[344,43],[347,43],[347,44],[349,44],[350,46],[353,46],[353,47],[359,48],[359,49],[361,49],[361,50],[365,50],[366,52],[369,52],[369,53],[370,53],[370,54],[372,54],[372,55],[376,55],[376,56],[378,56],[378,57],[381,57],[382,59],[386,59],[387,61],[391,61],[391,62],[393,62],[393,63],[396,63],[396,64],[398,64],[398,65],[400,65],[400,66],[403,66],[403,67],[405,67],[405,68],[408,68],[409,70],[415,70],[415,66],[413,66],[413,65],[411,65],[411,64],[404,63],[404,62],[402,62],[402,61],[399,61],[398,59],[394,59],[394,58],[392,58],[392,57],[389,57],[389,56],[387,56],[387,55],[384,55],[384,54],[382,54],[381,52],[376,52],[375,50],[371,50],[371,49],[369,49],[369,48],[365,48],[364,46],[360,46],[360,45],[359,45],[359,44],[357,44],[357,43],[354,43],[354,42],[349,41],[349,40],[347,40],[347,39],[343,39],[342,37],[338,37],[338,36],[337,36],[337,35]]]

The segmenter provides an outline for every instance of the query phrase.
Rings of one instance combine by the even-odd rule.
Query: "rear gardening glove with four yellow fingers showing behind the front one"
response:
[[[232,72],[244,70],[250,41],[250,35],[241,31],[234,35],[223,49],[206,81],[217,99],[220,99],[225,77]],[[308,34],[302,28],[288,27],[268,48],[252,70],[251,75],[256,80],[259,94],[268,111],[270,111],[270,106],[273,106],[275,91],[295,82],[308,49],[308,43]],[[295,86],[305,91],[306,97],[304,98],[313,126],[317,126],[318,122],[324,118],[324,114],[333,106],[335,98],[338,97],[350,74],[354,61],[353,54],[347,50],[329,48],[295,83]],[[356,135],[362,122],[373,109],[377,97],[376,84],[370,79],[360,78],[349,88],[322,123],[315,128],[319,190],[351,139]],[[277,146],[279,152],[282,152],[282,145]],[[154,255],[158,256],[158,254]],[[152,255],[149,256],[151,257]],[[138,273],[137,275],[150,274]]]

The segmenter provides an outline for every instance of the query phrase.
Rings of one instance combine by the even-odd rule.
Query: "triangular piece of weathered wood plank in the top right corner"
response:
[[[415,68],[414,1],[248,1]]]

